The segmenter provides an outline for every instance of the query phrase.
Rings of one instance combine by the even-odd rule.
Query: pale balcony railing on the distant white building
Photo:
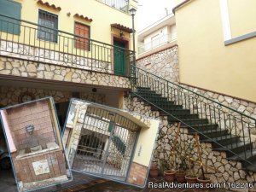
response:
[[[176,41],[177,38],[171,34],[166,34],[161,36],[160,38],[156,38],[153,41],[149,42],[148,44],[143,44],[142,46],[138,47],[138,54],[143,54],[148,50],[154,49],[160,45],[171,43]]]

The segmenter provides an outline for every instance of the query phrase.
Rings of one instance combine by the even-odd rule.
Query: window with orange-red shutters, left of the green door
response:
[[[74,32],[76,36],[74,44],[75,48],[90,50],[90,26],[75,22]]]

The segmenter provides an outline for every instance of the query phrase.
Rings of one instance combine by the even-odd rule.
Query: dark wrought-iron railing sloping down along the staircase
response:
[[[198,130],[195,125],[190,125],[186,120],[181,120],[173,115],[173,106],[166,103],[155,104],[155,102],[162,103],[162,98],[155,96],[150,98],[151,94],[140,96],[155,108],[168,114],[172,119],[176,119],[193,131],[199,132],[201,136],[206,138],[207,142],[214,143],[218,148],[224,148],[228,153],[236,156],[236,160],[244,160],[247,164],[253,165],[252,160],[256,160],[256,138],[252,136],[251,132],[256,130],[256,119],[179,84],[148,73],[141,68],[133,68],[136,74],[136,84],[133,84],[132,88],[134,94],[140,96],[137,94],[137,88],[148,87],[160,96],[166,97],[167,101],[173,102],[174,105],[179,105],[183,109],[189,109],[190,113],[197,114],[199,119],[207,119],[208,122],[202,128],[206,128],[207,125],[210,125],[211,128]],[[148,98],[153,99],[154,103],[148,101]],[[213,129],[214,125],[217,125],[216,130]],[[214,133],[220,134],[218,139],[207,135]],[[225,142],[230,139],[233,142],[227,145]]]

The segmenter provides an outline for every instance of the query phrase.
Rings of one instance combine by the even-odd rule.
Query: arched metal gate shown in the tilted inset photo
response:
[[[125,181],[139,126],[119,113],[88,108],[73,169]]]

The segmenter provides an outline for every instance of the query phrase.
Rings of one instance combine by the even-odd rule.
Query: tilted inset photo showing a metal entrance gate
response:
[[[145,187],[159,120],[72,99],[63,134],[74,172]]]

